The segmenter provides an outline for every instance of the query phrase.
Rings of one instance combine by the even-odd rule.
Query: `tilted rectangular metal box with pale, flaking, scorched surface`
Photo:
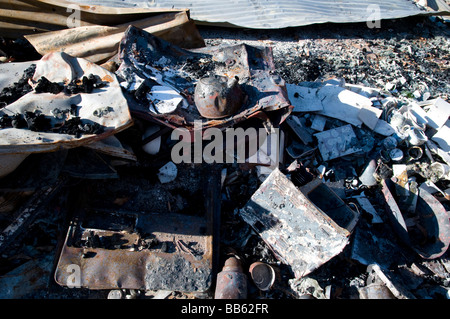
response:
[[[338,255],[359,218],[331,190],[317,196],[323,194],[325,184],[318,180],[310,183],[301,191],[275,169],[240,210],[244,221],[281,262],[291,266],[297,278]],[[337,202],[340,209],[323,210]]]

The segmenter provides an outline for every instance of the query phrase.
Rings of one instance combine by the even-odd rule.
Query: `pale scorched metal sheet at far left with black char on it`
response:
[[[63,52],[53,52],[36,62],[36,71],[32,81],[35,88],[41,77],[51,82],[68,84],[73,79],[95,75],[103,85],[94,88],[91,93],[58,94],[37,93],[35,90],[25,94],[15,102],[0,110],[3,115],[14,116],[26,112],[39,112],[50,121],[51,127],[72,118],[79,117],[82,125],[95,124],[102,127],[98,134],[81,134],[80,136],[55,133],[52,131],[32,131],[28,128],[6,127],[0,130],[0,154],[22,154],[55,151],[59,148],[72,148],[94,142],[120,132],[131,125],[130,111],[119,82],[114,73],[84,59],[73,58]],[[75,115],[68,115],[76,105]],[[102,113],[99,110],[107,109]],[[57,118],[55,110],[66,117]]]

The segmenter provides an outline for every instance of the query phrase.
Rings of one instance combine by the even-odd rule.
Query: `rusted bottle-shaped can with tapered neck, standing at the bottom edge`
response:
[[[230,257],[217,274],[215,299],[246,299],[247,276],[242,271],[241,262],[236,257]]]

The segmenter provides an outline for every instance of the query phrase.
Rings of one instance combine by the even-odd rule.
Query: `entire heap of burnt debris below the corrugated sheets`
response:
[[[0,298],[450,298],[438,22],[12,52]]]

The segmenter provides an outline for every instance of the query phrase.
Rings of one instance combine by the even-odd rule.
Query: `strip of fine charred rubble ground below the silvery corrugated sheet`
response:
[[[217,36],[214,32],[203,33],[208,45],[245,41],[273,46],[277,72],[287,83],[336,76],[394,96],[416,94],[419,100],[439,94],[446,99],[449,94],[449,31],[439,18],[383,20],[381,28],[373,29],[325,24],[301,32],[246,30],[239,40],[226,30]]]

